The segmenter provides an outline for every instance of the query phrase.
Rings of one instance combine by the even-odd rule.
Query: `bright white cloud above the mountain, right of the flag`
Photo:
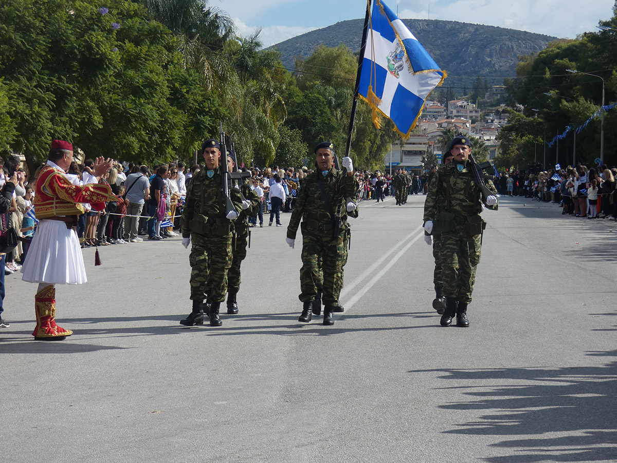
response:
[[[584,7],[580,0],[437,0],[431,2],[431,19],[486,24],[574,38],[585,31],[596,31],[598,20],[612,17],[614,4],[613,0],[588,0]],[[402,9],[399,15],[426,19],[428,9]]]

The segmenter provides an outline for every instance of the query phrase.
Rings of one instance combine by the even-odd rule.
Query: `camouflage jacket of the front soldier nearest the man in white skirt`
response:
[[[225,219],[225,197],[222,191],[222,176],[221,168],[217,167],[214,170],[214,175],[209,178],[207,175],[208,169],[202,169],[197,172],[189,183],[186,189],[186,200],[182,210],[181,227],[183,238],[189,238],[191,231],[196,226],[197,215],[201,215],[212,221],[218,220],[224,223]],[[231,202],[234,209],[240,214],[242,212],[242,201],[238,191],[230,191]]]

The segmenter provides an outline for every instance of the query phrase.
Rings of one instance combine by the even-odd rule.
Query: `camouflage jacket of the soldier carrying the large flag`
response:
[[[339,205],[336,203],[336,199],[340,194],[339,186],[342,185],[344,194],[341,205],[341,219],[343,222],[346,222],[347,215],[357,217],[358,209],[347,214],[346,203],[349,200],[355,201],[359,188],[358,180],[356,180],[355,175],[345,174],[344,178],[341,177],[343,177],[342,171],[336,170],[335,167],[328,172],[326,177],[323,177],[318,170],[307,175],[304,181],[302,181],[296,199],[296,206],[294,206],[294,210],[291,213],[291,219],[287,227],[288,238],[292,238],[293,240],[296,239],[296,233],[301,219],[315,226],[327,226],[333,223],[333,217],[331,217],[328,206],[325,201],[323,201],[321,188],[319,186],[320,182],[323,183],[334,214],[336,214],[338,210]]]

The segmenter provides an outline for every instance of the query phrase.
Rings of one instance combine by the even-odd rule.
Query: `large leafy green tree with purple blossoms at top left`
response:
[[[169,161],[222,111],[185,70],[173,35],[135,2],[7,0],[0,73],[15,88],[11,146],[32,167],[53,138],[86,156]],[[212,105],[209,115],[199,112]],[[10,127],[10,125],[9,125]],[[199,133],[198,133],[199,132]]]

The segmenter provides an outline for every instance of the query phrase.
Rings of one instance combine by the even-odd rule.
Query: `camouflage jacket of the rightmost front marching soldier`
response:
[[[435,221],[440,212],[450,212],[458,217],[477,215],[482,212],[482,193],[473,180],[468,166],[461,172],[457,162],[450,162],[437,170],[428,187],[424,201],[424,222]],[[485,180],[486,186],[495,196],[497,190],[491,180]],[[485,204],[486,206],[486,204]],[[497,209],[497,206],[486,206]]]

